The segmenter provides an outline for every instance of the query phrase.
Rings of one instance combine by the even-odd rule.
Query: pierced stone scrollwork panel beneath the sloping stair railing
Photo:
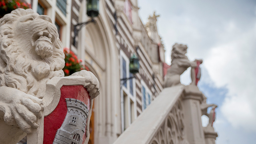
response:
[[[187,144],[184,135],[184,116],[180,99],[173,106],[150,144]]]

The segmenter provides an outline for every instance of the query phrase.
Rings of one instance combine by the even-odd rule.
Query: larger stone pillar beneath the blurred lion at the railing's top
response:
[[[196,85],[185,86],[182,104],[184,107],[185,135],[189,144],[205,144],[200,108],[202,100],[203,93],[199,91]]]

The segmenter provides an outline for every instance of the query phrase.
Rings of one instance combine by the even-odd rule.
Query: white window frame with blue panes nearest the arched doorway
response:
[[[126,77],[123,77],[123,59],[126,61]],[[129,71],[129,63],[130,60],[126,56],[126,54],[120,50],[120,79],[122,78],[128,78],[130,77],[130,71]],[[128,79],[127,82],[127,87],[124,86],[124,81],[121,81],[120,83],[122,84],[121,86],[121,129],[122,132],[125,130],[125,125],[124,125],[124,92],[128,96],[128,123],[129,125],[132,124],[132,112],[131,112],[131,101],[133,102],[133,109],[134,109],[134,120],[137,118],[137,101],[136,101],[136,80],[135,78],[132,78],[132,91],[133,93],[130,93],[130,80]]]

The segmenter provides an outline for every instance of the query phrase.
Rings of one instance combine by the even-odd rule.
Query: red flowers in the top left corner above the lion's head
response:
[[[0,18],[17,8],[28,9],[31,8],[31,5],[24,0],[0,0]]]

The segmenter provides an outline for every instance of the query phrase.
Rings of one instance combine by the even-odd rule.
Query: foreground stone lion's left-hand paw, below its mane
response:
[[[2,99],[4,121],[6,124],[18,124],[21,130],[31,133],[38,127],[38,120],[44,111],[43,101],[33,95],[17,89],[10,93],[9,98]]]

